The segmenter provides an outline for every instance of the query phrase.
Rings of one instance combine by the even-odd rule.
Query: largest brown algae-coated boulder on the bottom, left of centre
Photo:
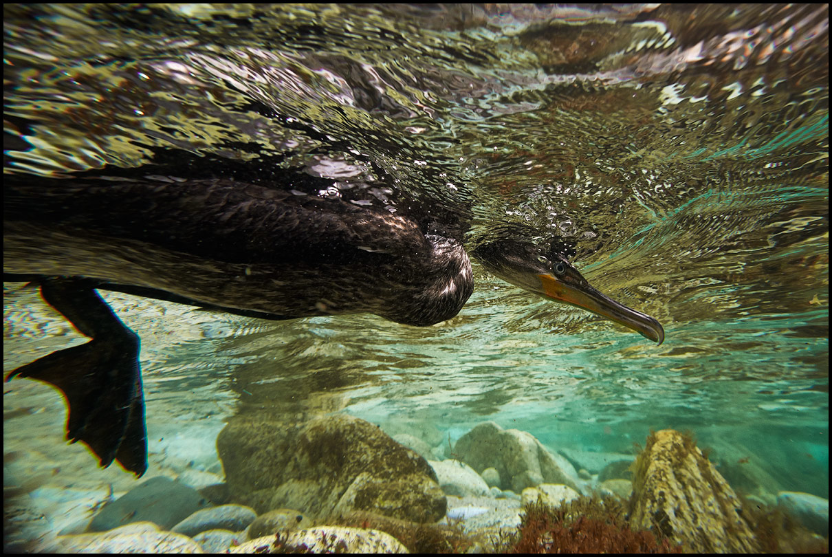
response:
[[[415,522],[445,514],[428,462],[350,415],[300,425],[237,415],[220,432],[217,450],[231,499],[258,513],[291,508],[324,518],[368,510]]]

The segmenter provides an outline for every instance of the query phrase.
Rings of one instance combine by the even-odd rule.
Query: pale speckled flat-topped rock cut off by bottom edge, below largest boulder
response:
[[[251,540],[229,553],[409,553],[392,535],[380,530],[317,526],[285,535]]]

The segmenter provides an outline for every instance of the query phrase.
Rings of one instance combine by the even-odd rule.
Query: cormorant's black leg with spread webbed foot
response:
[[[21,366],[12,377],[41,380],[62,390],[69,405],[67,440],[87,444],[109,466],[136,475],[147,470],[145,404],[139,337],[98,296],[90,281],[42,278],[47,303],[92,340]]]

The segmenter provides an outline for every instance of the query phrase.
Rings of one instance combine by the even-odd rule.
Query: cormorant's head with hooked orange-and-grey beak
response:
[[[665,340],[661,323],[604,296],[587,282],[569,262],[575,254],[572,245],[556,240],[542,246],[532,241],[529,232],[522,225],[500,227],[480,238],[472,255],[488,271],[523,290],[592,311],[659,344]]]

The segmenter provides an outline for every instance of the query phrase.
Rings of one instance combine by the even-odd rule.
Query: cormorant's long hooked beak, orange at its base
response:
[[[651,316],[647,316],[640,311],[631,310],[629,307],[612,300],[612,298],[604,296],[601,292],[589,286],[586,281],[583,281],[580,285],[573,285],[548,273],[537,275],[537,278],[540,279],[542,286],[542,291],[538,293],[544,297],[592,311],[592,313],[637,331],[641,333],[641,336],[659,344],[665,340],[665,330],[661,327],[661,323]]]

